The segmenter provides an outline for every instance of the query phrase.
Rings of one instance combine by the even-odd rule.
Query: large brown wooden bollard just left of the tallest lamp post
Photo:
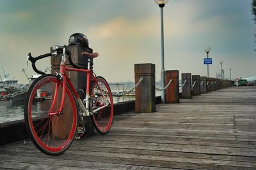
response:
[[[140,85],[135,89],[135,112],[151,113],[156,111],[156,69],[155,64],[134,64],[135,83]]]

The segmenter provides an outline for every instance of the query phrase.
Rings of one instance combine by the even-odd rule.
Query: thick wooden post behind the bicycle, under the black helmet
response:
[[[79,66],[82,66],[87,69],[88,60],[86,60],[86,58],[81,55],[81,53],[83,52],[83,49],[81,48],[81,46],[70,45],[68,46],[68,50],[70,50],[70,52],[72,53],[72,61],[74,62],[74,64],[79,64]],[[51,52],[52,52],[52,49],[51,49]],[[51,73],[52,74],[56,74],[55,71],[58,72],[60,70],[59,59],[60,58],[58,57],[51,56],[51,69],[52,69]],[[67,67],[72,67],[69,64],[68,59],[66,59],[65,65]],[[70,71],[70,73],[68,74],[70,75],[70,80],[72,81],[72,84],[74,85],[75,89],[82,89],[85,92],[86,91],[86,74],[78,73],[74,71]],[[83,97],[83,94],[79,94],[79,95],[80,97]],[[68,105],[64,106],[64,109],[68,109],[68,108],[70,108],[70,106]],[[66,119],[67,120],[65,120],[65,122],[70,122],[68,120],[71,120],[71,118],[68,116]],[[58,136],[65,136],[66,134],[63,134],[63,133],[65,133],[65,130],[63,129],[61,129],[61,132],[55,132],[55,134],[58,134]],[[94,127],[93,127],[92,120],[90,118],[86,118],[86,136],[90,136],[93,133],[94,133]]]

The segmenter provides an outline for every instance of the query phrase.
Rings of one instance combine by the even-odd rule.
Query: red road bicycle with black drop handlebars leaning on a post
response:
[[[52,46],[52,53],[38,57],[27,57],[32,62],[36,73],[42,74],[31,83],[24,108],[24,120],[28,134],[38,150],[48,155],[60,155],[71,145],[77,132],[77,124],[81,124],[78,138],[84,136],[86,118],[90,117],[95,129],[100,134],[109,132],[113,121],[113,98],[108,82],[101,76],[96,76],[90,68],[91,60],[98,53],[82,52],[88,57],[88,67],[74,64],[71,52],[67,46]],[[49,56],[60,56],[60,72],[56,75],[39,71],[36,60]],[[66,55],[71,66],[65,66]],[[86,74],[86,94],[79,97],[67,71]],[[69,72],[68,72],[69,73]],[[92,84],[92,86],[91,86]],[[81,130],[82,129],[82,130]]]

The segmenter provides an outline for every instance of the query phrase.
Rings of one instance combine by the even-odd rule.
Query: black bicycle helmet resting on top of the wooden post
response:
[[[92,51],[92,48],[89,48],[87,37],[81,33],[72,34],[68,39],[68,45],[81,45],[83,48],[87,48]]]

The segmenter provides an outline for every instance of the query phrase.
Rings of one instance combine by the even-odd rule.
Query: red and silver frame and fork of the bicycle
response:
[[[99,83],[97,82],[97,78],[94,76],[93,71],[90,69],[90,57],[88,57],[88,68],[87,69],[77,69],[77,68],[66,67],[64,62],[65,62],[65,48],[63,48],[63,57],[61,59],[61,64],[60,64],[60,73],[58,73],[61,76],[61,79],[63,80],[63,91],[62,91],[62,96],[61,96],[61,105],[60,105],[60,109],[58,111],[56,111],[54,113],[52,112],[53,106],[56,103],[56,99],[58,97],[58,95],[57,95],[58,94],[58,85],[56,85],[55,92],[54,92],[54,98],[52,100],[52,105],[51,105],[51,108],[50,108],[50,111],[49,111],[49,115],[60,115],[62,113],[63,104],[64,104],[64,101],[65,101],[65,90],[66,90],[65,84],[67,83],[68,86],[70,87],[70,90],[71,90],[72,94],[76,98],[77,103],[79,104],[79,106],[83,110],[83,114],[85,114],[84,116],[88,117],[88,116],[90,116],[89,99],[90,99],[90,81],[91,80],[95,81],[95,83],[99,87],[100,93],[102,94],[102,96],[106,100],[106,98],[105,98],[105,96],[102,92],[102,89],[100,88]],[[66,71],[76,71],[76,72],[86,73],[87,81],[86,81],[85,107],[84,107],[83,101],[81,100],[81,98],[77,94],[76,89],[74,88],[74,85],[70,81],[70,77],[68,76],[68,74],[66,74]],[[91,78],[91,76],[92,76],[92,78]],[[103,108],[106,108],[107,106],[109,106],[109,103],[106,103],[104,106],[101,106],[100,108],[97,108],[97,109],[93,110],[92,113],[95,113],[99,110],[102,110]]]

